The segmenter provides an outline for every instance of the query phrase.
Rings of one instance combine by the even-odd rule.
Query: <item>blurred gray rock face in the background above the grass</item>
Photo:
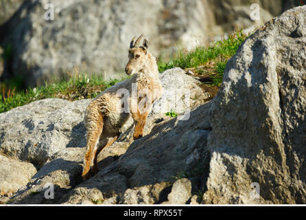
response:
[[[289,6],[283,2],[299,4],[294,0],[273,4],[268,0],[24,1],[0,27],[1,46],[12,47],[5,69],[8,75],[24,76],[25,86],[65,76],[74,66],[89,74],[120,77],[132,36],[144,33],[156,57],[173,54],[178,47],[189,50],[234,26],[249,28],[250,5],[257,2],[263,22]],[[1,11],[3,7],[7,4],[0,5]]]

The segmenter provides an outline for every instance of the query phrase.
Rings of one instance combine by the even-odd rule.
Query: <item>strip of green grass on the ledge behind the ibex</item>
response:
[[[158,70],[163,72],[173,67],[191,69],[196,76],[203,74],[209,76],[211,78],[210,85],[220,87],[226,62],[235,54],[245,39],[246,36],[242,31],[237,31],[230,34],[228,39],[218,41],[209,47],[199,46],[192,51],[180,50],[171,61],[165,62],[162,58],[158,58]],[[10,46],[5,50],[5,57],[8,56],[10,56]],[[198,69],[198,67],[202,67],[202,69]],[[62,79],[58,83],[45,83],[44,86],[34,89],[21,89],[23,79],[14,78],[0,84],[0,113],[44,98],[63,98],[71,101],[94,98],[101,91],[119,81],[121,80],[106,82],[102,76],[95,75],[89,78],[86,73],[77,71],[69,74],[69,78]],[[169,112],[168,115],[176,117],[176,113]]]

